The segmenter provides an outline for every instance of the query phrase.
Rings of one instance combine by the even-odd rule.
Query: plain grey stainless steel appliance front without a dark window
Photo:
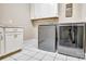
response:
[[[38,48],[40,50],[56,52],[54,25],[40,25],[38,27]]]

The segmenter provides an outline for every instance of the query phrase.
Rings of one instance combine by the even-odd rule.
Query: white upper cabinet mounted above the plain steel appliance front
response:
[[[30,18],[58,17],[58,3],[32,3]]]

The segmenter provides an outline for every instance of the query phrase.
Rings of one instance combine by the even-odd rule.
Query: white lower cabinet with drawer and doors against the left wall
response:
[[[23,28],[0,27],[0,56],[22,49]]]

